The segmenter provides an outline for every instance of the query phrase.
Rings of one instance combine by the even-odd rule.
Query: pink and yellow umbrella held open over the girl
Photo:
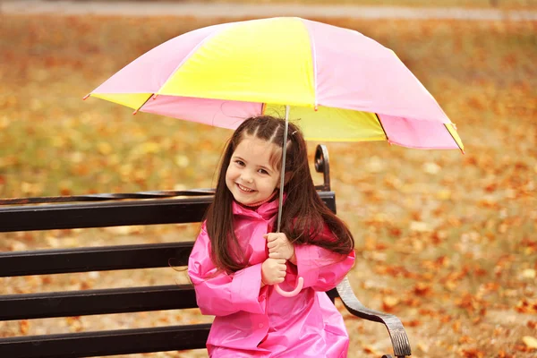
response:
[[[297,17],[185,33],[127,64],[89,96],[134,114],[230,129],[254,115],[285,113],[286,121],[300,119],[306,140],[464,150],[455,125],[392,50],[355,30]]]

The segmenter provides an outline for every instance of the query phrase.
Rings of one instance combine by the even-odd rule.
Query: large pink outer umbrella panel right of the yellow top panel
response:
[[[317,63],[319,105],[449,122],[429,91],[387,47],[354,30],[304,23]]]

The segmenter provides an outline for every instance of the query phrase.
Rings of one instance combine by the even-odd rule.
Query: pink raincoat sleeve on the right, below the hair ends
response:
[[[320,235],[317,239],[322,240],[323,235],[333,237],[328,227]],[[354,264],[354,250],[345,255],[313,244],[303,244],[294,246],[294,255],[298,276],[303,277],[304,287],[311,287],[315,291],[326,292],[336,287]]]

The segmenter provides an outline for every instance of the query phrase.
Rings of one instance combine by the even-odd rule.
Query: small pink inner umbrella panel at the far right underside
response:
[[[379,115],[388,141],[416,149],[458,149],[444,124]]]

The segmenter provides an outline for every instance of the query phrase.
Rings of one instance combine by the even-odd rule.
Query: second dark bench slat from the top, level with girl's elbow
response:
[[[186,266],[193,242],[0,252],[0,277]]]

